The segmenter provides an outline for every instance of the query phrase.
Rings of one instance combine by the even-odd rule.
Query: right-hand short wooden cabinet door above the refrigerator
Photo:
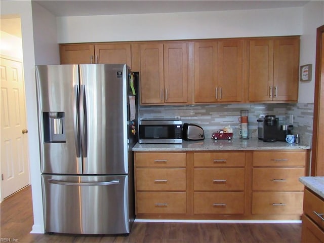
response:
[[[132,67],[131,44],[96,44],[96,63],[127,64]]]

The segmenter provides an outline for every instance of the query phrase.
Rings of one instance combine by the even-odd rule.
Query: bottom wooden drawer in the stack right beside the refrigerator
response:
[[[138,214],[185,214],[185,192],[137,192]]]

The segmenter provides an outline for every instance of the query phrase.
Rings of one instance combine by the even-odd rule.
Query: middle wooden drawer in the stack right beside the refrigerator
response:
[[[136,169],[138,191],[184,191],[186,190],[186,169]]]

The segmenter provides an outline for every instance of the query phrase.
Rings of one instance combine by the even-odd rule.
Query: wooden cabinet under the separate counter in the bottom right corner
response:
[[[302,242],[324,242],[324,198],[305,187]]]

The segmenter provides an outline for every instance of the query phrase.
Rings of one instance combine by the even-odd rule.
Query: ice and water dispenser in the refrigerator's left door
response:
[[[43,112],[44,142],[65,143],[64,112]]]

